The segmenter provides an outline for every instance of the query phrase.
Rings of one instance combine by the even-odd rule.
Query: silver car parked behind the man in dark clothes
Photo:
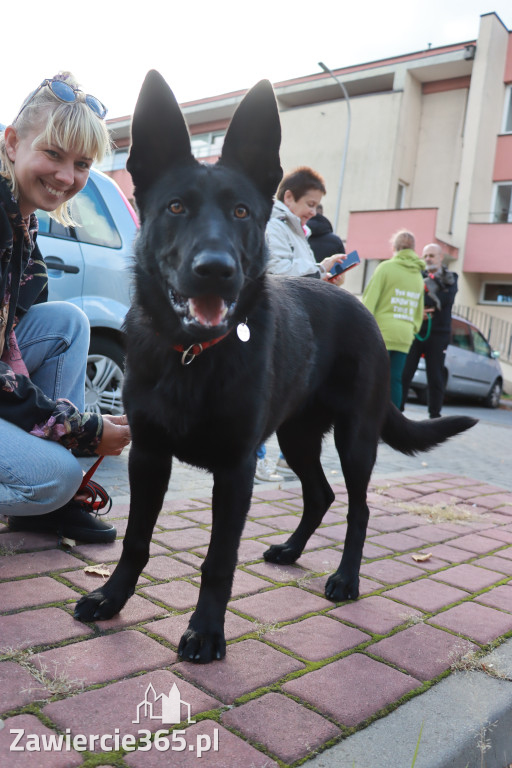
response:
[[[488,408],[497,408],[503,388],[498,358],[484,336],[462,317],[452,317],[452,337],[445,355],[445,394],[478,398]],[[411,382],[419,402],[427,402],[425,358],[421,358]]]

